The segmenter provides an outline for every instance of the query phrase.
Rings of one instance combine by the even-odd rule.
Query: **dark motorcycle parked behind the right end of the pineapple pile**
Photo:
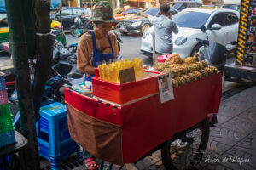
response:
[[[220,26],[212,26],[212,29],[220,29]],[[201,31],[207,35],[207,28],[201,26]],[[208,40],[202,40],[196,38],[196,41],[202,44],[202,47],[199,48],[199,60],[207,61],[208,65],[215,66],[218,71],[223,72],[227,56],[236,49],[236,42],[230,42],[225,45],[222,45],[218,42],[211,42]]]

